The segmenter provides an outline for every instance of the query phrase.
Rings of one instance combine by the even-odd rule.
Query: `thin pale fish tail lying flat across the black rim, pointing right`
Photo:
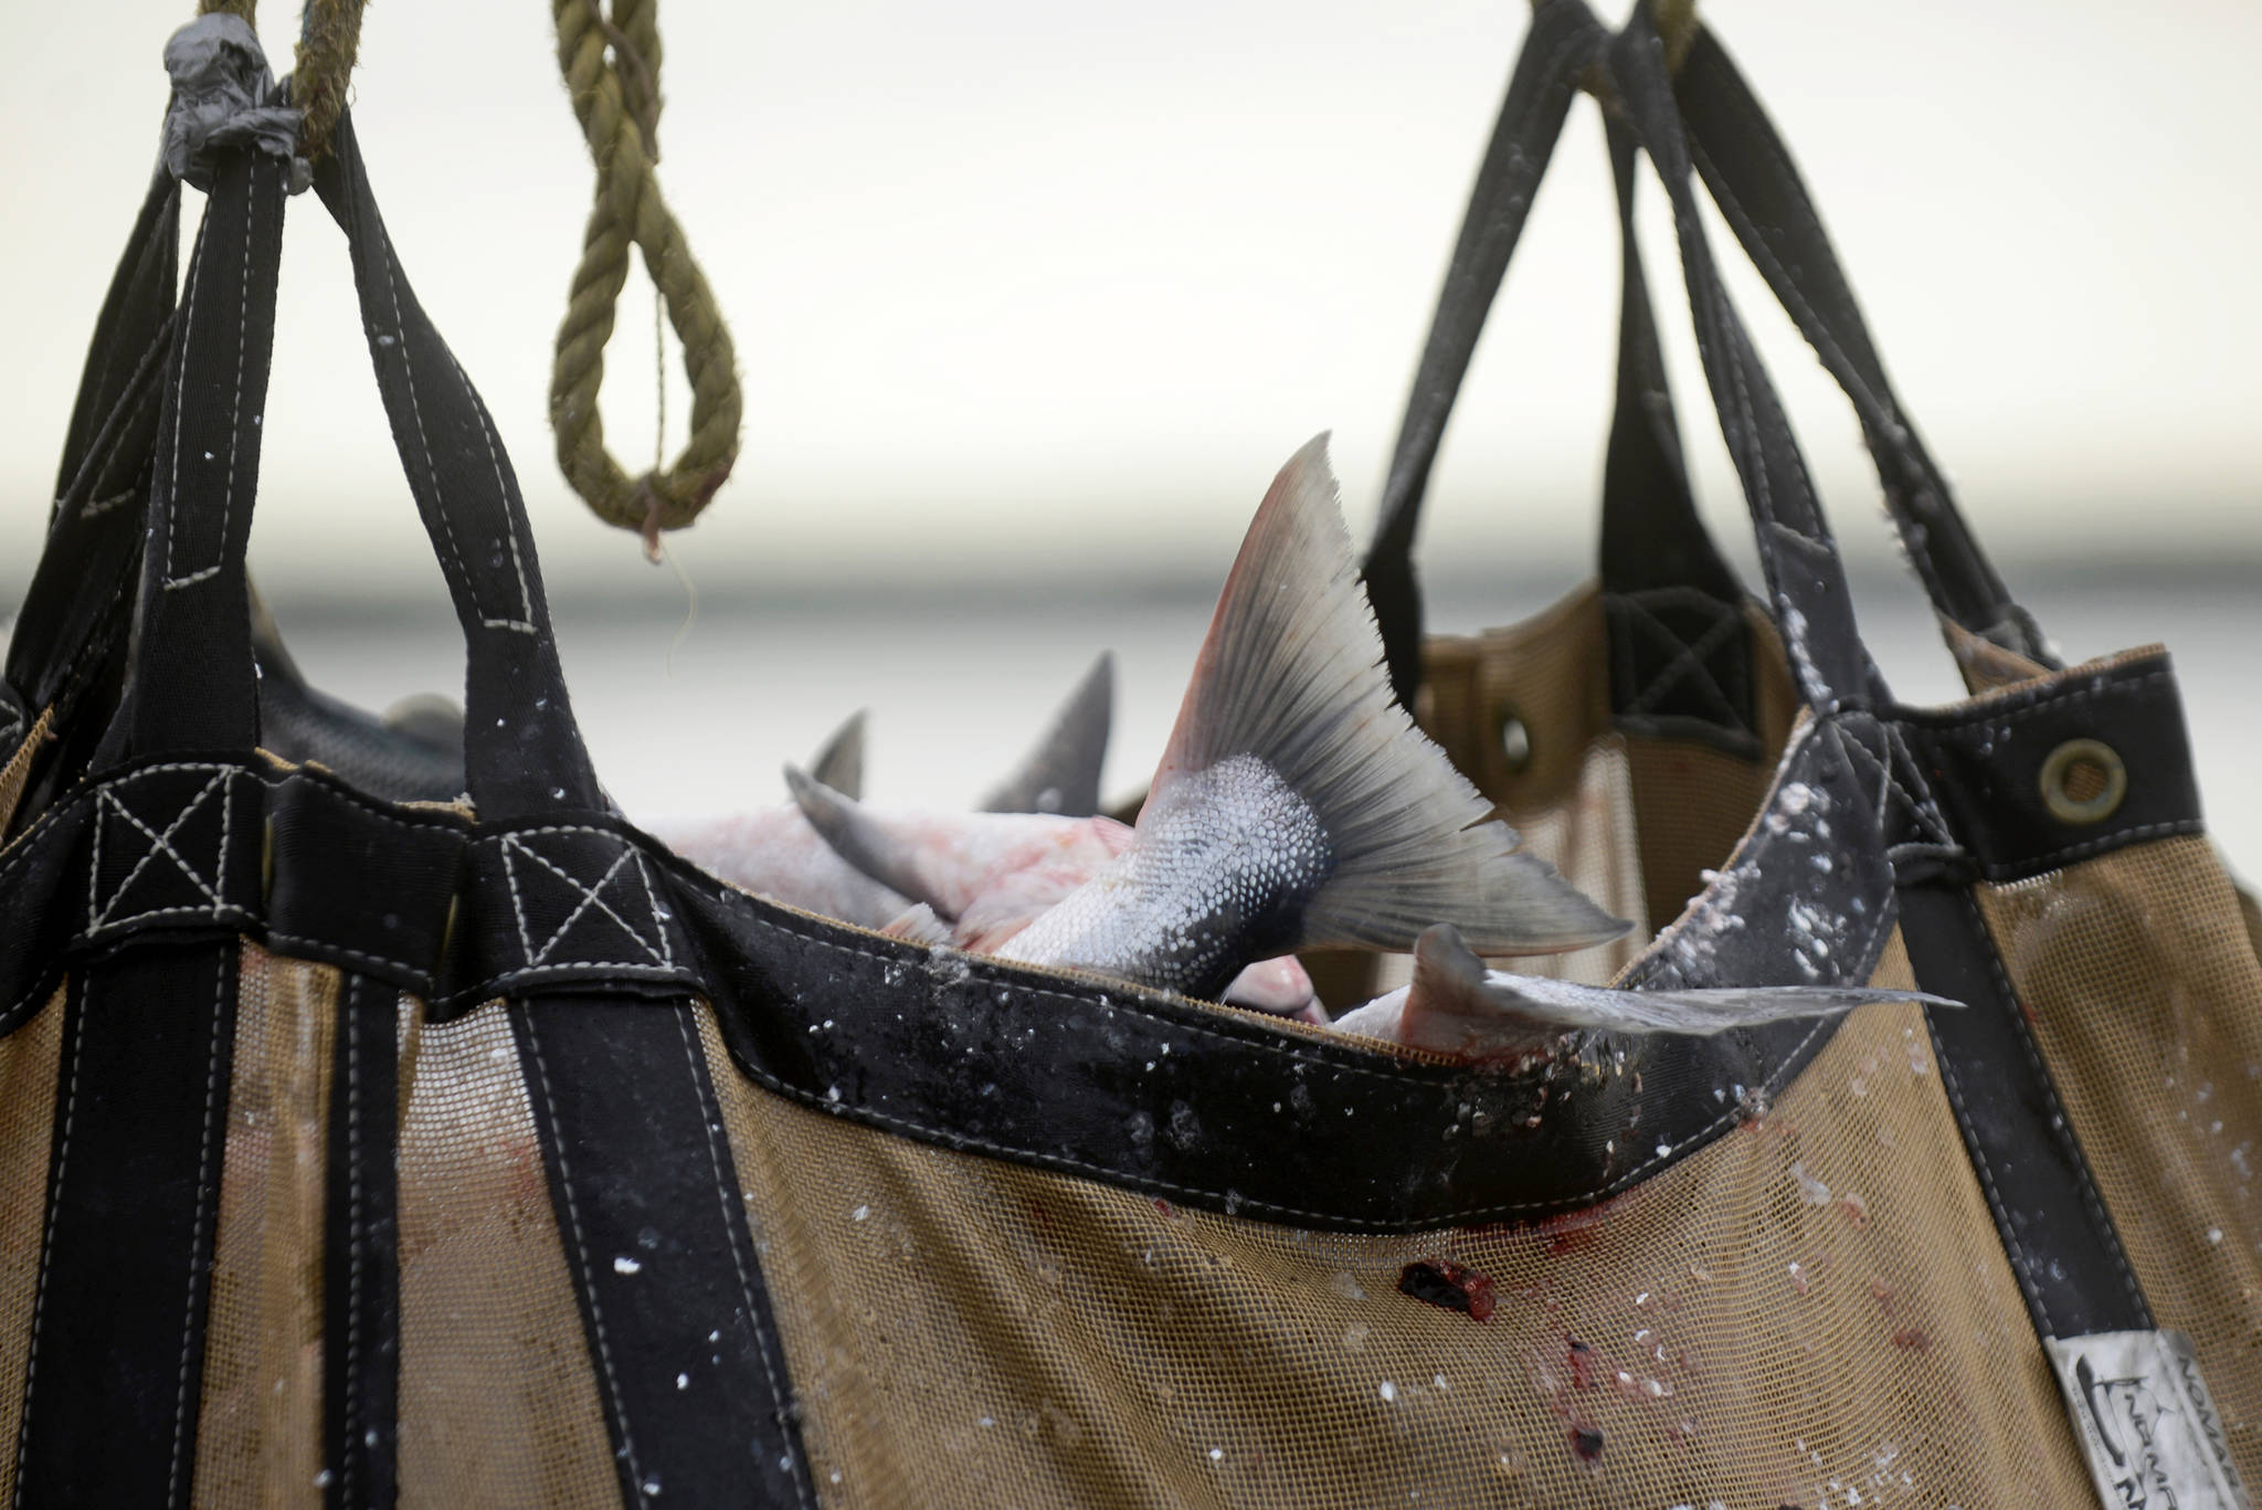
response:
[[[1961,1003],[1925,992],[1839,985],[1624,992],[1572,980],[1511,976],[1484,960],[1450,924],[1414,942],[1414,985],[1400,1016],[1407,1044],[1425,1048],[1513,1046],[1572,1028],[1604,1032],[1712,1035],[1794,1016],[1837,1016],[1880,1001],[1932,1007]]]

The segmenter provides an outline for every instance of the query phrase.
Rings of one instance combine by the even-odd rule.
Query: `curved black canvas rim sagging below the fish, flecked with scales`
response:
[[[1866,980],[1896,910],[1871,795],[1834,722],[1794,738],[1776,822],[1665,930],[1651,985]],[[1796,788],[1796,790],[1792,790]],[[1789,792],[1789,795],[1785,795]],[[1816,838],[1814,820],[1844,824]],[[1816,867],[1825,853],[1830,867]],[[737,1066],[887,1132],[1335,1232],[1590,1207],[1764,1107],[1834,1021],[1717,1039],[1572,1039],[1516,1071],[1289,1035],[1133,987],[930,953],[683,892]],[[1816,933],[1821,926],[1821,933]],[[1805,949],[1787,946],[1803,935]]]

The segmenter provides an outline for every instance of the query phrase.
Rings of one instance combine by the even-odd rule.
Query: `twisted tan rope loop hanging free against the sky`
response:
[[[731,331],[654,174],[661,158],[656,9],[656,0],[613,0],[611,14],[602,0],[552,0],[559,70],[597,165],[597,197],[550,376],[559,469],[599,518],[642,532],[654,559],[658,532],[692,523],[731,475],[742,412]],[[692,385],[683,453],[665,471],[633,480],[604,448],[604,417],[597,412],[604,344],[613,335],[631,244],[667,303],[667,319],[683,342],[683,376]]]

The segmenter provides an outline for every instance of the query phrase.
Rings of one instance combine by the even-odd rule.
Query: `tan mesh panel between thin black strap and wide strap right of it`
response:
[[[400,1503],[618,1505],[502,1003],[403,1003]]]

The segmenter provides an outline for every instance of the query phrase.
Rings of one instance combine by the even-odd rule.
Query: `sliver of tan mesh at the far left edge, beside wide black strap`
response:
[[[48,1157],[54,1141],[54,1075],[63,1053],[63,989],[0,1039],[0,1501],[16,1494],[16,1429],[23,1370],[38,1299],[38,1234],[48,1225]]]

